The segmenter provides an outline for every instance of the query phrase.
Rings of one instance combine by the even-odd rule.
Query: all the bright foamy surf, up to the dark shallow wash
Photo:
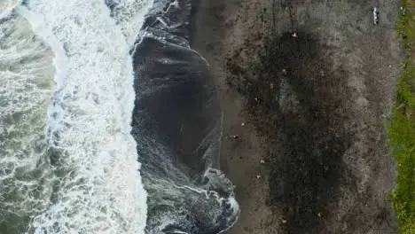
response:
[[[0,232],[143,233],[128,24],[145,7],[130,20],[103,1],[1,9]]]

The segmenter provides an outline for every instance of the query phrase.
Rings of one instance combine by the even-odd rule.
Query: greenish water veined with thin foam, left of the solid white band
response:
[[[11,14],[0,23],[0,222],[16,217],[12,222],[20,225],[50,196],[43,182],[50,178],[44,129],[52,57],[23,17]]]

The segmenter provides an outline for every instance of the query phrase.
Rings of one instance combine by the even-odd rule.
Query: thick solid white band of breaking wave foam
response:
[[[142,9],[134,19],[143,18]],[[130,135],[131,39],[124,37],[133,36],[124,28],[137,21],[117,26],[99,0],[31,0],[20,13],[56,54],[59,72],[48,128],[55,136],[53,148],[61,153],[55,171],[66,172],[54,203],[35,216],[32,228],[35,233],[144,233],[146,193]]]

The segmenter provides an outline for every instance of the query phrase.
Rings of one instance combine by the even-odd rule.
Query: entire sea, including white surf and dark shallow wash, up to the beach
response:
[[[0,1],[0,234],[213,234],[236,222],[191,7]]]

